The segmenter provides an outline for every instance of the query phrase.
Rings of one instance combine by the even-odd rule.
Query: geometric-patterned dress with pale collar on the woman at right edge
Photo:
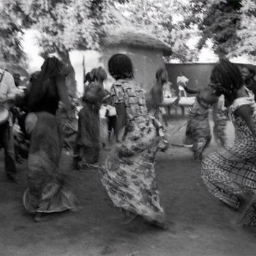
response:
[[[251,106],[256,128],[255,99],[252,95],[235,99],[230,106],[235,140],[203,159],[202,165],[203,183],[208,191],[233,208],[239,207],[236,195],[256,192],[256,138],[244,119],[235,115],[241,105]]]

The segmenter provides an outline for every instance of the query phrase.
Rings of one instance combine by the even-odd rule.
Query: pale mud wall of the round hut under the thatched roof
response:
[[[105,69],[108,69],[108,60],[113,54],[124,53],[127,54],[132,60],[132,64],[135,72],[135,80],[142,83],[142,86],[146,91],[151,87],[155,80],[155,74],[159,67],[165,67],[165,63],[162,58],[162,50],[148,50],[144,48],[132,48],[129,46],[118,46],[108,48],[104,51],[102,56],[102,62]],[[112,82],[108,79],[108,87]]]

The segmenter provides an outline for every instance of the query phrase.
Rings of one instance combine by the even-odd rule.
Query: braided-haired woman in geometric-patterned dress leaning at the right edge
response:
[[[203,183],[212,195],[238,210],[234,222],[255,225],[255,208],[251,207],[256,192],[255,100],[243,86],[238,67],[229,61],[223,60],[214,67],[211,87],[217,96],[225,96],[235,140],[203,159]]]

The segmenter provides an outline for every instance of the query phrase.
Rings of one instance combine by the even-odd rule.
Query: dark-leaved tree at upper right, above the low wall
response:
[[[193,18],[187,23],[196,23],[201,31],[198,49],[208,39],[213,42],[214,52],[219,57],[236,55],[241,24],[241,0],[191,1]]]

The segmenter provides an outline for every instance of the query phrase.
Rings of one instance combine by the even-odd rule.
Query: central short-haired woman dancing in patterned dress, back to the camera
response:
[[[110,75],[116,79],[110,94],[118,115],[116,148],[100,167],[102,184],[114,206],[141,216],[157,227],[167,227],[160,205],[154,170],[155,155],[162,126],[146,107],[146,92],[135,82],[132,62],[116,54],[108,62]]]

